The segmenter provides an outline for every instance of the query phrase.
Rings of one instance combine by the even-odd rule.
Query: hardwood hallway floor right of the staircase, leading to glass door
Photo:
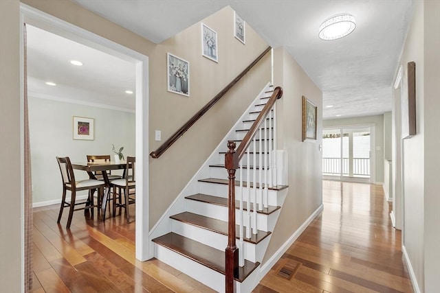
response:
[[[381,185],[324,180],[322,202],[254,292],[413,292]]]

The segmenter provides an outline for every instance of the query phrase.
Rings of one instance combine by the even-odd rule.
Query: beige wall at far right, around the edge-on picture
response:
[[[440,288],[440,2],[417,1],[401,65],[416,64],[417,134],[405,139],[404,247],[420,292]]]

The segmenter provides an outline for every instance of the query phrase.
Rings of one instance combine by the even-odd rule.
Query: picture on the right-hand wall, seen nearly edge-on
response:
[[[401,79],[401,138],[409,139],[416,134],[415,121],[415,62],[408,62]]]

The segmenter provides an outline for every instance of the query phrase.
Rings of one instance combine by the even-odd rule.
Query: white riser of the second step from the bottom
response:
[[[216,248],[218,250],[224,251],[226,246],[228,246],[227,235],[212,232],[206,230],[205,228],[200,228],[198,226],[194,226],[177,220],[173,221],[173,232],[200,242],[202,244]],[[245,259],[248,259],[248,261],[252,262],[261,262],[267,248],[264,240],[265,239],[263,239],[263,241],[261,241],[259,244],[243,242]],[[236,242],[239,242],[239,239],[236,239]]]

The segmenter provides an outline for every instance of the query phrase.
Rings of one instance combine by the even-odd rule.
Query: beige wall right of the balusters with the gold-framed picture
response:
[[[287,154],[289,191],[263,263],[322,204],[322,93],[283,47],[274,49],[274,84],[283,86],[277,102],[278,149]],[[303,95],[318,106],[316,142],[302,141]]]

